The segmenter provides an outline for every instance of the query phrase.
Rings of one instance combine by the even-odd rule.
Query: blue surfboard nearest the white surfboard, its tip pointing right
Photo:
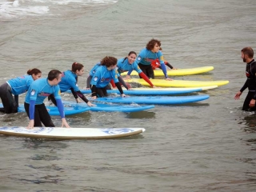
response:
[[[62,101],[65,106],[73,106],[73,107],[85,107],[88,108],[90,111],[104,111],[104,112],[136,112],[136,111],[141,111],[141,110],[149,110],[154,108],[153,105],[150,106],[130,106],[130,105],[117,105],[117,104],[103,104],[103,103],[98,103],[94,102],[94,105],[96,106],[87,106],[85,102],[67,102],[67,101]]]

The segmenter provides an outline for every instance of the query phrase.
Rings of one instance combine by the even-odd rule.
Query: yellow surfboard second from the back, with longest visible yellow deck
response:
[[[137,82],[142,86],[150,86],[143,78],[131,78],[125,80],[126,82]],[[162,87],[196,87],[196,86],[224,86],[229,81],[184,81],[184,80],[172,80],[167,81],[166,79],[150,79],[154,86]]]

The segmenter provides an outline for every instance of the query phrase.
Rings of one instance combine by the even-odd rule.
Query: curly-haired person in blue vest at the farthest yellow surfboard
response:
[[[154,70],[151,66],[151,62],[154,62],[156,59],[160,61],[162,72],[165,75],[166,80],[172,80],[171,78],[168,78],[166,73],[166,65],[163,59],[162,52],[159,51],[161,46],[161,42],[157,39],[152,38],[150,42],[146,44],[146,48],[141,50],[141,52],[138,54],[138,57],[136,58],[134,64],[138,65],[142,72],[146,74],[148,78],[154,78]],[[130,73],[133,70],[130,70],[128,72],[128,75],[130,76]],[[128,76],[128,77],[129,77]],[[140,77],[141,78],[141,77]]]

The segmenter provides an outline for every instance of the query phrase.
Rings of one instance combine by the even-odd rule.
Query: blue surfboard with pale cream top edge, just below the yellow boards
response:
[[[190,94],[202,90],[214,89],[218,86],[192,87],[192,88],[134,88],[134,90],[123,90],[124,94],[130,95],[167,95],[167,94]],[[119,90],[106,90],[108,94],[120,94]],[[91,94],[91,90],[81,90],[82,94]],[[66,93],[71,93],[67,90]]]

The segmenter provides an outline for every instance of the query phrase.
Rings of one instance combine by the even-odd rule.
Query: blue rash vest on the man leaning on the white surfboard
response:
[[[61,99],[58,85],[50,86],[48,78],[39,78],[30,85],[25,102],[30,104],[30,101],[35,101],[36,105],[40,105],[50,94],[54,94],[56,100]]]

